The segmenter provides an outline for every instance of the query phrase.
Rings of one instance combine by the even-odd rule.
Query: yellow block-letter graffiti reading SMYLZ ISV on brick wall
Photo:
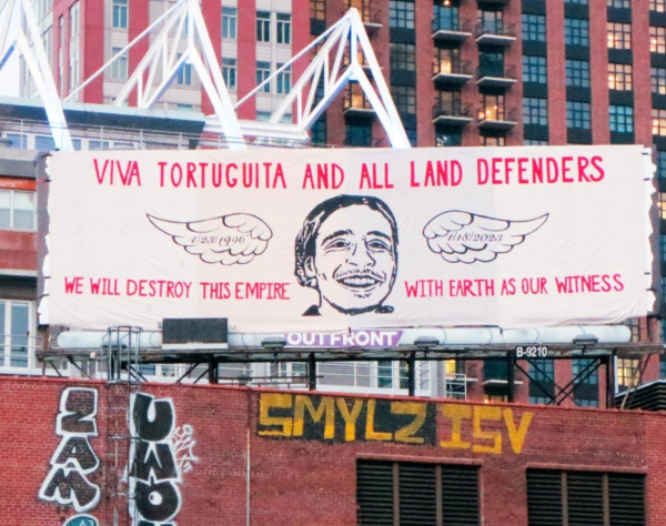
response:
[[[259,402],[258,435],[440,445],[494,454],[509,444],[521,453],[532,416],[524,412],[516,422],[511,408],[485,405],[265,393]]]

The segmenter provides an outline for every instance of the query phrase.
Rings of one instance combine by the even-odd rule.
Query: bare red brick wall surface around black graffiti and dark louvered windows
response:
[[[49,474],[49,461],[61,442],[56,435],[56,417],[61,393],[67,387],[98,391],[98,436],[89,442],[101,466],[89,478],[99,484],[103,493],[99,504],[88,513],[100,524],[109,525],[115,504],[119,524],[127,524],[127,503],[122,497],[113,498],[105,488],[107,483],[113,481],[113,455],[110,453],[119,442],[109,439],[108,435],[114,431],[114,416],[122,416],[122,411],[114,411],[114,407],[127,407],[122,404],[125,387],[60,378],[1,377],[0,438],[3,447],[0,448],[0,466],[4,484],[0,486],[0,524],[4,526],[62,524],[74,515],[71,505],[60,506],[38,496]],[[260,423],[260,397],[264,396],[265,404],[275,392],[155,384],[143,385],[142,392],[158,398],[171,398],[175,425],[189,424],[193,428],[192,437],[196,444],[192,452],[199,462],[182,474],[179,485],[182,507],[174,518],[179,525],[210,524],[222,517],[225,525],[246,524],[248,452],[250,524],[253,526],[355,524],[356,459],[367,457],[481,465],[485,526],[527,525],[527,467],[647,473],[647,525],[662,525],[666,516],[666,504],[662,498],[666,484],[666,419],[663,414],[438,401],[428,409],[432,412],[428,418],[434,418],[435,423],[435,441],[433,445],[425,445],[396,443],[395,431],[400,426],[386,421],[385,413],[384,417],[380,416],[380,408],[385,409],[392,403],[412,402],[415,405],[408,407],[421,411],[423,401],[340,395],[346,399],[347,407],[354,403],[364,407],[353,439],[345,435],[344,424],[340,421],[334,428],[334,439],[324,439],[325,417],[319,423],[306,417],[304,434],[309,436],[310,433],[317,439],[303,439],[293,437],[300,433],[293,419],[295,396],[306,396],[303,393],[279,392],[280,399],[292,407],[269,408]],[[313,401],[316,407],[321,398]],[[377,413],[374,418],[365,418],[371,404],[376,404]],[[391,407],[396,413],[395,406]],[[287,422],[286,427],[282,427],[266,425],[266,415],[291,416],[282,421]],[[341,418],[340,415],[336,409],[335,418]],[[457,438],[452,424],[455,418],[461,423]],[[363,419],[371,419],[371,425]],[[119,422],[124,424],[123,418]],[[526,432],[516,431],[521,425]],[[271,429],[278,433],[286,429],[289,436],[259,435]],[[521,435],[524,436],[522,445]],[[122,447],[120,449],[119,464],[123,468]]]

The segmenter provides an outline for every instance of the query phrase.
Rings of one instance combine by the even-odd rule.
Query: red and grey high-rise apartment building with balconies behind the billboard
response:
[[[170,0],[32,3],[63,98],[174,4]],[[289,62],[349,8],[356,8],[362,17],[414,145],[653,146],[660,219],[666,219],[666,0],[202,0],[201,9],[232,100],[242,99]],[[88,103],[113,101],[148,45],[148,41],[141,41],[75,99]],[[183,50],[184,45],[182,42]],[[243,104],[239,118],[268,120],[306,64],[296,65]],[[22,93],[33,95],[34,85],[24,68],[22,71]],[[132,97],[129,105],[135,101]],[[212,113],[188,63],[154,108]],[[14,146],[48,149],[48,138],[41,135],[6,131],[3,136],[13,139]],[[349,84],[319,119],[311,138],[314,145],[390,145],[355,83]],[[78,143],[80,148],[107,145],[103,141],[83,141]],[[0,214],[3,208],[10,213],[22,210],[21,192],[9,186],[0,190],[0,198],[4,195]],[[2,204],[10,203],[10,199],[13,204]],[[0,224],[0,229],[6,226]],[[664,262],[666,234],[659,239]],[[664,272],[666,265],[662,263],[662,267]],[[22,303],[17,305],[20,310]],[[12,334],[8,324],[14,315],[7,313],[13,312],[14,300],[0,299],[2,306],[4,333]],[[656,320],[633,321],[632,328],[636,338],[660,337]],[[604,405],[608,378],[620,388],[628,387],[638,380],[639,365],[637,360],[617,358],[612,375],[602,366],[575,386],[574,403]],[[303,366],[274,364],[263,374],[297,375]],[[518,383],[517,399],[547,403],[557,386],[567,385],[587,366],[583,357],[525,364],[539,386],[537,382]],[[334,378],[333,386],[347,385],[357,392],[405,388],[406,370],[397,362],[322,367],[329,367],[326,376]],[[504,362],[433,362],[428,367],[420,373],[425,378],[423,393],[455,395],[458,390],[474,398],[506,397]],[[446,384],[442,380],[446,377],[462,378],[462,383]],[[649,358],[642,377],[666,377],[666,362]]]

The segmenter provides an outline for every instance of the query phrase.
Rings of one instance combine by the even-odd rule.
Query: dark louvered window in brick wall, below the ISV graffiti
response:
[[[478,525],[478,467],[359,459],[356,507],[359,525]]]

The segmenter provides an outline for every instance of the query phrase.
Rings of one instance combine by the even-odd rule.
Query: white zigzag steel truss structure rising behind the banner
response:
[[[0,9],[2,10],[0,16],[3,17],[0,21],[2,28],[0,33],[2,48],[0,50],[7,49],[0,59],[0,69],[18,47],[44,104],[56,146],[60,150],[72,150],[62,102],[58,95],[30,0],[3,0]],[[14,9],[20,9],[26,23],[24,27],[21,24],[20,28],[17,28],[16,40],[7,47],[10,20]],[[158,30],[157,36],[151,39],[148,51],[113,102],[114,105],[124,105],[135,90],[137,107],[152,108],[176,79],[182,68],[191,64],[214,110],[214,114],[206,118],[204,132],[220,133],[224,135],[230,149],[243,150],[246,148],[245,138],[261,136],[306,142],[309,131],[314,122],[347,83],[356,82],[386,131],[391,145],[410,148],[410,141],[370,44],[370,39],[361,17],[354,8],[234,105],[224,84],[220,63],[198,0],[178,0],[62,101],[72,99],[117,60],[127,57],[129,50],[138,42],[150,38],[151,31]],[[184,50],[183,42],[185,43]],[[263,88],[278,75],[291,71],[292,64],[299,59],[307,59],[311,50],[320,44],[321,50],[310,61],[303,74],[293,84],[268,122],[239,121],[235,110],[241,104],[262,92]],[[370,71],[370,77],[365,69]],[[285,115],[290,114],[295,115],[292,118],[292,123],[281,122]]]

